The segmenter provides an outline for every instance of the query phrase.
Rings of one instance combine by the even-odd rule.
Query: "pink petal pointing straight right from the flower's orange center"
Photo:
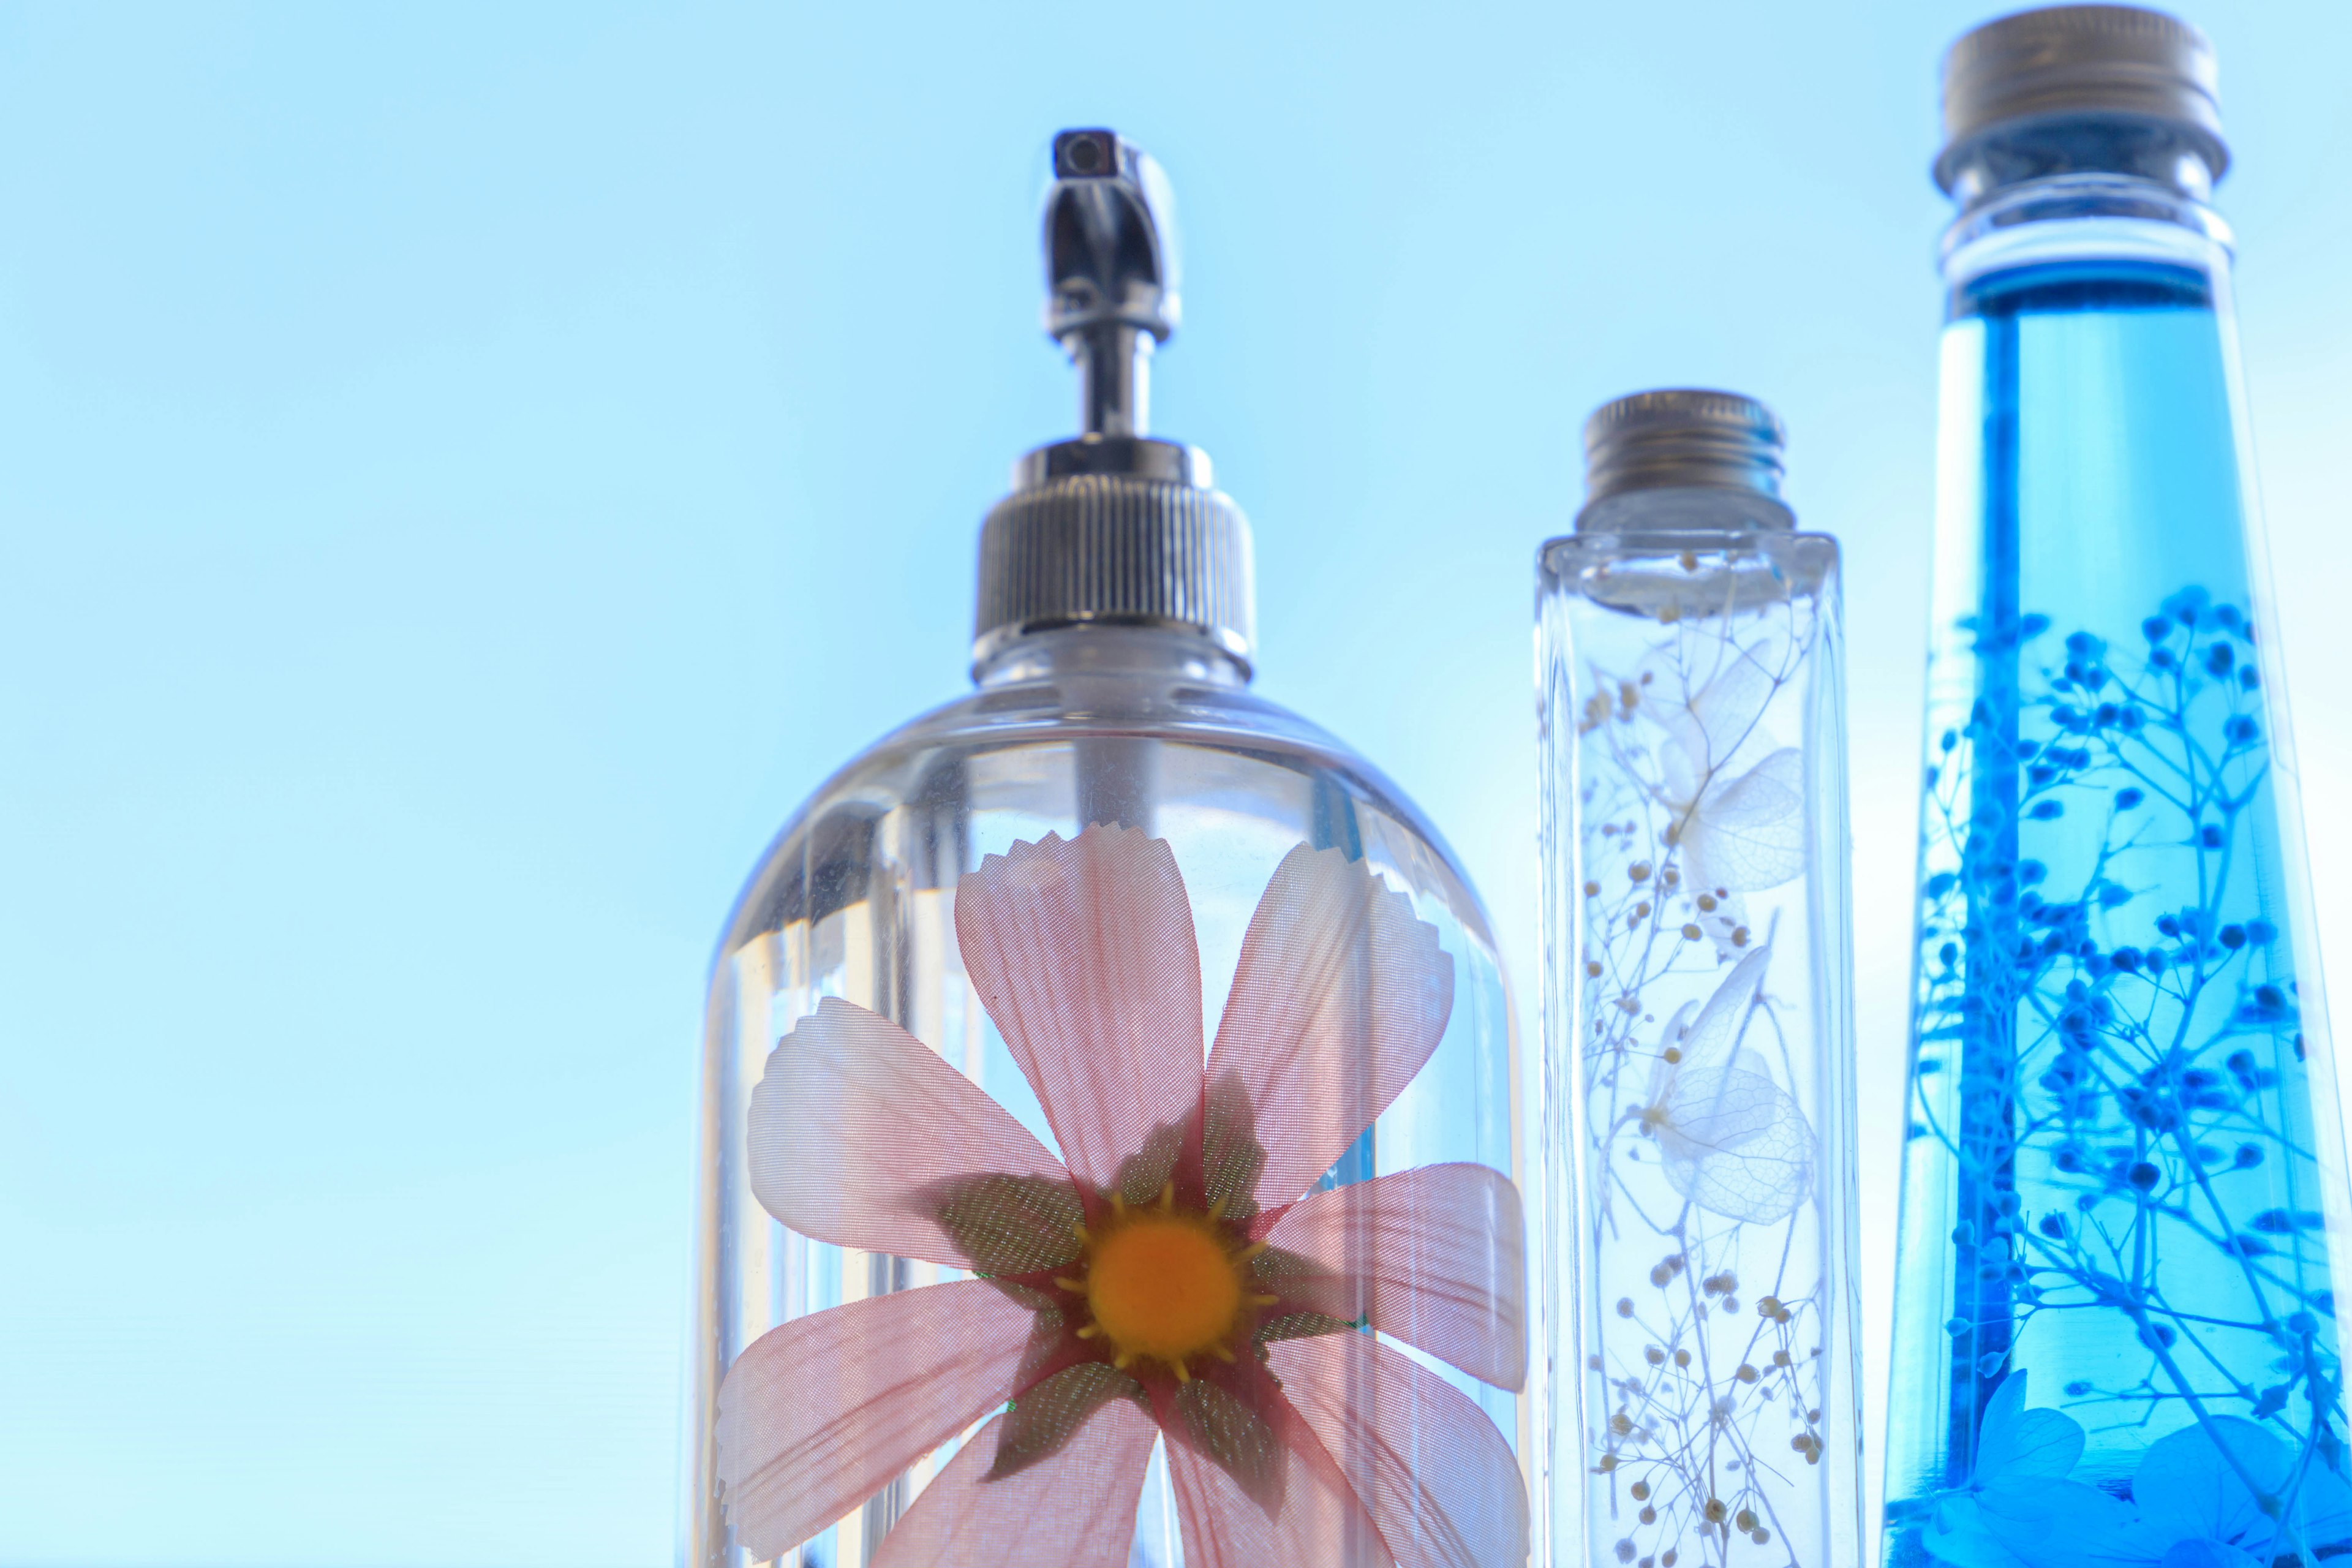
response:
[[[1294,1300],[1371,1326],[1503,1389],[1526,1385],[1526,1222],[1486,1166],[1421,1166],[1310,1192],[1265,1239],[1324,1269]]]

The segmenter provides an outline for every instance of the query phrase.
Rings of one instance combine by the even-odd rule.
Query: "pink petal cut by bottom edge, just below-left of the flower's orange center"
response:
[[[1127,1568],[1136,1502],[1160,1427],[1131,1399],[1112,1399],[1051,1460],[995,1481],[1004,1418],[981,1427],[889,1535],[875,1568],[1058,1563]]]

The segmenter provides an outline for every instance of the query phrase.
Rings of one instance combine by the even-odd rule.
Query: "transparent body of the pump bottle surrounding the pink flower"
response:
[[[983,670],[971,696],[884,738],[818,790],[762,858],[713,964],[687,1481],[687,1561],[699,1568],[750,1561],[729,1542],[713,1455],[717,1382],[736,1356],[776,1324],[962,1279],[936,1262],[800,1237],[760,1208],[746,1107],[769,1053],[823,999],[854,1001],[931,1046],[1056,1150],[964,973],[955,891],[985,856],[1091,823],[1141,827],[1174,849],[1211,1032],[1258,896],[1291,849],[1341,849],[1406,893],[1454,959],[1454,1011],[1428,1065],[1319,1187],[1442,1161],[1515,1178],[1519,1060],[1496,940],[1414,806],[1331,736],[1256,698],[1200,639],[1141,628],[1025,637]],[[1519,1284],[1508,1293],[1517,1300]],[[1522,1450],[1522,1396],[1406,1354]],[[774,1561],[863,1568],[960,1441]],[[1145,1481],[1131,1561],[1183,1561],[1164,1448]]]

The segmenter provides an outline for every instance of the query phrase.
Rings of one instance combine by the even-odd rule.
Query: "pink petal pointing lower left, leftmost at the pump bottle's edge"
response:
[[[776,1556],[1014,1394],[1037,1314],[967,1279],[771,1328],[720,1385],[720,1486],[736,1542]]]

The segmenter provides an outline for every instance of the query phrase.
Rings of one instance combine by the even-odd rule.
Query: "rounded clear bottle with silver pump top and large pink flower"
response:
[[[976,691],[882,738],[800,809],[713,964],[682,1561],[1216,1568],[1395,1556],[1510,1568],[1526,1554],[1526,1326],[1519,1060],[1496,940],[1395,785],[1249,691],[1242,512],[1211,489],[1207,456],[1143,433],[1148,353],[1176,322],[1167,188],[1110,132],[1058,136],[1054,165],[1047,327],[1082,371],[1087,433],[1023,458],[1016,491],[988,517]],[[1124,931],[1056,929],[1042,961],[1009,966],[988,912],[1030,896],[1023,877],[1087,853],[1174,867],[1181,898],[1143,914],[1112,900],[1134,914]],[[1329,976],[1270,983],[1270,945],[1303,938],[1268,936],[1254,919],[1268,919],[1279,903],[1268,889],[1291,886],[1301,867],[1364,900],[1374,938],[1327,952]],[[1289,914],[1301,907],[1322,905]],[[1138,929],[1157,936],[1136,940]],[[1404,1001],[1381,990],[1392,964],[1383,931],[1418,943],[1432,985],[1449,987],[1428,1013],[1442,1025],[1435,1048],[1381,1081],[1381,1063],[1324,1063],[1289,1107],[1298,1119],[1338,1107],[1324,1121],[1341,1126],[1341,1145],[1319,1154],[1312,1138],[1268,1128],[1272,1112],[1256,1103],[1265,1147],[1244,1143],[1261,1161],[1272,1150],[1272,1164],[1225,1180],[1232,1105],[1216,1074],[1235,1016],[1291,1006],[1303,1013],[1291,1032],[1395,1030]],[[1141,1187],[1150,1138],[1110,1154],[1056,1138],[1056,1126],[1073,1133],[1056,1112],[1068,1081],[1051,1063],[1040,1079],[1037,1023],[1000,985],[1009,973],[1018,990],[1063,959],[1176,976],[1160,992],[1176,1011],[1192,1004],[1197,976],[1216,1081],[1185,1091],[1169,1124],[1181,1150],[1160,1150],[1174,1166],[1162,1159]],[[1054,990],[1051,976],[1037,983]],[[1430,994],[1406,1001],[1421,1009]],[[1117,1006],[1098,1023],[1061,1070],[1122,1070],[1138,1025]],[[868,1070],[842,1046],[858,1030],[870,1063],[896,1063],[903,1103],[877,1095],[851,1114],[835,1103],[849,1095],[842,1084],[835,1100],[811,1088],[826,1072]],[[915,1056],[889,1056],[891,1041]],[[941,1105],[995,1143],[938,1147],[924,1131],[943,1124],[924,1117]],[[884,1124],[898,1133],[875,1131]],[[1014,1145],[1051,1173],[1044,1199],[1035,1175],[990,1166]],[[1075,1182],[1054,1154],[1070,1159]],[[948,1199],[873,1201],[957,1159],[974,1168],[908,1187]],[[1458,1222],[1430,1222],[1432,1180]],[[1080,1239],[1056,1220],[1042,1253],[1007,1260],[990,1229],[1004,1215],[955,1208],[955,1194],[993,1192],[988,1182],[1030,1182],[1021,1192],[1061,1206]],[[1287,1208],[1296,1187],[1308,1197]],[[1209,1272],[1240,1269],[1240,1307],[1221,1276],[1240,1316],[1197,1354],[1129,1333],[1134,1312],[1174,1312],[1176,1286],[1127,1302],[1129,1319],[1096,1293],[1112,1244],[1150,1234],[1171,1246],[1209,1237],[1221,1244]],[[880,1328],[851,1342],[842,1324]],[[1007,1324],[1007,1345],[1094,1359],[1044,1382],[1035,1359],[974,1380],[969,1340]],[[1218,1392],[1261,1373],[1284,1382],[1249,1385],[1258,1403]],[[1023,1441],[1033,1448],[1014,1462]],[[1089,1443],[1124,1458],[1084,1460]],[[866,1469],[849,1474],[842,1455]]]

